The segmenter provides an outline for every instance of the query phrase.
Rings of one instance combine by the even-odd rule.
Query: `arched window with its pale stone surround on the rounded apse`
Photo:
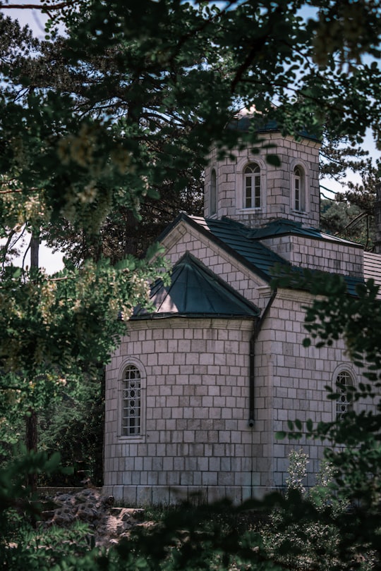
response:
[[[129,376],[128,371],[138,372],[139,378],[134,379],[134,376]],[[145,386],[146,375],[143,364],[134,357],[129,357],[124,361],[119,369],[119,398],[118,398],[118,436],[120,440],[126,442],[143,442],[145,440]],[[137,386],[133,387],[136,381]],[[130,385],[130,386],[128,386]],[[135,392],[134,392],[135,391]],[[128,394],[129,393],[129,394]],[[133,401],[135,397],[135,402]],[[126,407],[126,405],[130,405]],[[133,405],[133,406],[131,406]],[[126,410],[126,408],[129,409]],[[131,430],[128,429],[128,416],[129,413],[136,413],[138,415],[139,431],[133,431],[133,423],[131,423]],[[126,414],[127,413],[127,414]],[[133,417],[130,417],[133,418]],[[128,434],[130,433],[130,434]]]

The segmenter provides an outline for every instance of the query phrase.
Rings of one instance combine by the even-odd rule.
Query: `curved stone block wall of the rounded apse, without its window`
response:
[[[171,503],[201,493],[241,502],[263,457],[248,426],[250,320],[135,321],[106,378],[104,493],[126,503]],[[120,435],[121,378],[144,372],[143,431]],[[177,498],[179,499],[179,498]]]

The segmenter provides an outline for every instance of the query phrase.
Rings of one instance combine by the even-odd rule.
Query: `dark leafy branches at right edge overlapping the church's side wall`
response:
[[[319,422],[316,426],[307,421],[306,426],[296,420],[289,421],[290,436],[298,437],[305,431],[309,438],[322,438],[327,442],[325,456],[333,469],[332,487],[338,498],[349,501],[350,510],[337,517],[340,542],[339,555],[349,564],[355,542],[359,556],[366,558],[374,551],[380,560],[380,301],[378,287],[373,280],[358,283],[356,295],[347,293],[342,276],[322,272],[304,271],[303,275],[291,274],[278,278],[279,285],[308,288],[316,296],[306,307],[306,329],[317,347],[331,346],[344,338],[351,360],[363,370],[368,383],[356,386],[337,386],[337,391],[327,386],[328,398],[337,400],[340,391],[346,391],[349,402],[359,403],[332,422]],[[375,405],[375,412],[367,404]],[[279,436],[285,436],[285,433]],[[329,445],[329,446],[328,446]]]

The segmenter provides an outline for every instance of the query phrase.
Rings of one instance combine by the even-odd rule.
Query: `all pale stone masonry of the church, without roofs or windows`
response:
[[[262,134],[261,134],[262,137]],[[210,172],[217,173],[217,218],[229,216],[248,226],[286,218],[317,228],[319,222],[318,152],[313,140],[294,141],[265,133],[264,143],[277,145],[280,167],[265,164],[265,149],[235,159],[210,154],[205,172],[205,214],[209,214]],[[258,161],[262,207],[241,208],[243,168]],[[305,212],[292,209],[292,173],[306,173]],[[362,277],[363,250],[327,236],[290,233],[261,240],[295,266]],[[331,347],[303,347],[308,292],[279,288],[272,292],[250,264],[181,219],[162,239],[171,264],[191,252],[231,288],[253,302],[255,317],[188,317],[131,320],[106,370],[104,493],[131,505],[175,503],[181,499],[235,503],[261,497],[285,485],[287,455],[303,448],[308,454],[307,485],[315,481],[326,443],[277,440],[288,420],[330,422],[336,405],[325,386],[334,388],[338,372],[364,381],[351,364],[344,340]],[[250,348],[253,348],[250,357]],[[122,436],[123,372],[128,364],[141,376],[141,426],[138,436]],[[251,368],[250,368],[251,367]],[[250,388],[250,382],[253,386]],[[254,423],[249,425],[250,390]],[[354,404],[375,410],[372,400]]]

